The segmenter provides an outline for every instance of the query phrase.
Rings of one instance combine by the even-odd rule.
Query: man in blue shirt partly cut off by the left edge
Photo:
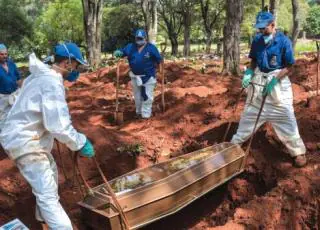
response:
[[[21,86],[16,64],[8,58],[8,49],[0,44],[0,131]]]

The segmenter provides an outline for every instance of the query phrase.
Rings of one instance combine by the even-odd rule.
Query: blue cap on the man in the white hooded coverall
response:
[[[71,59],[75,59],[82,65],[88,65],[87,62],[83,59],[80,48],[72,42],[66,42],[59,45],[56,45],[54,48],[55,55],[61,57],[67,57]]]

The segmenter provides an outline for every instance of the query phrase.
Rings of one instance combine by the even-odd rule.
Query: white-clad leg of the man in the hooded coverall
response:
[[[16,160],[36,196],[38,214],[51,230],[71,230],[72,224],[59,202],[57,168],[51,154],[31,153]]]

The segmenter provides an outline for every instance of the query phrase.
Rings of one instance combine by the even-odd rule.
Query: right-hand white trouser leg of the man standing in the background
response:
[[[149,118],[152,115],[152,103],[153,103],[153,92],[156,87],[157,80],[154,77],[151,77],[145,84],[145,95],[142,98],[142,117]],[[143,92],[142,92],[143,93]]]

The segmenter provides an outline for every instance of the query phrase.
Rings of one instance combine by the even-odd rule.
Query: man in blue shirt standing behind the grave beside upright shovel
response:
[[[144,30],[137,30],[135,43],[114,52],[115,57],[128,57],[131,83],[138,117],[150,118],[152,115],[153,91],[156,86],[156,68],[163,63],[157,47],[147,41]],[[163,68],[163,66],[162,66]]]

